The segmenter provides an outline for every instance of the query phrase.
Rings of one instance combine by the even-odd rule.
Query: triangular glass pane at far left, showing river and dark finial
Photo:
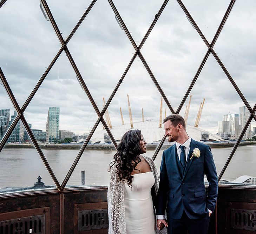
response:
[[[0,194],[54,188],[56,185],[20,120],[0,152]]]

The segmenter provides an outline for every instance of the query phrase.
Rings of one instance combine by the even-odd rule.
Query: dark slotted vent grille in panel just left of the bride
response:
[[[78,230],[93,230],[109,227],[107,209],[78,211]]]

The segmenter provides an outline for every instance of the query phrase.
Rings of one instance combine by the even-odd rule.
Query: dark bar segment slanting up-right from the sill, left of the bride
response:
[[[61,190],[61,191],[64,190],[64,188],[65,188],[65,186],[66,186],[68,180],[70,179],[70,176],[72,175],[74,169],[76,168],[77,163],[78,163],[79,159],[81,158],[82,154],[84,153],[84,150],[85,150],[85,148],[86,148],[88,142],[91,140],[94,131],[96,130],[96,128],[97,128],[98,125],[99,125],[100,119],[101,119],[101,117],[98,118],[98,120],[97,120],[96,123],[94,124],[94,126],[93,126],[91,132],[90,132],[89,135],[87,136],[87,138],[86,138],[86,140],[85,140],[83,146],[80,148],[80,151],[79,151],[79,153],[78,153],[76,159],[74,160],[74,162],[73,162],[71,168],[69,169],[69,171],[68,171],[68,173],[67,173],[65,179],[63,180],[63,182],[62,182],[62,184],[61,184],[61,186],[60,186],[60,190]]]

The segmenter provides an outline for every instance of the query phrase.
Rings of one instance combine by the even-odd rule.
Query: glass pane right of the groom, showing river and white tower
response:
[[[256,144],[255,137],[251,138],[251,125],[252,123],[239,143],[220,183],[256,185]]]

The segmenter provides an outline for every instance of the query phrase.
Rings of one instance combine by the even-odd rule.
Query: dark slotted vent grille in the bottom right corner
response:
[[[231,209],[231,228],[256,230],[256,210]]]

